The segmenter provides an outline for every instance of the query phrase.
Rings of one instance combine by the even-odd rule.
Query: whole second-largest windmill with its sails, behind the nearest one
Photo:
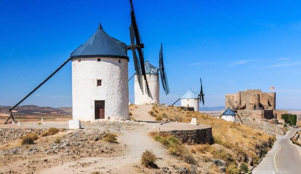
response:
[[[148,95],[144,95],[144,93],[140,90],[139,78],[136,74],[134,74],[134,76],[135,76],[135,83],[134,83],[135,104],[138,104],[138,105],[159,104],[160,103],[159,72],[160,72],[161,83],[162,83],[163,89],[165,91],[165,94],[167,95],[169,93],[169,86],[168,86],[166,71],[165,71],[164,62],[163,62],[162,43],[161,43],[161,49],[159,52],[159,68],[150,64],[149,61],[146,60],[144,63],[144,69],[145,69],[147,84],[149,86],[151,97]],[[144,84],[146,84],[146,83],[144,83],[144,79],[142,79],[142,84],[143,84],[143,88],[147,89],[144,85]]]

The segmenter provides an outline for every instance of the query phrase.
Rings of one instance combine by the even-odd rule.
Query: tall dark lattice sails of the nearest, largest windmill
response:
[[[133,7],[132,0],[129,0],[129,1],[130,1],[130,5],[131,5],[131,24],[130,24],[130,27],[129,27],[131,45],[126,46],[126,49],[132,51],[134,66],[135,66],[135,71],[136,71],[134,75],[136,75],[137,78],[138,78],[138,82],[139,82],[139,86],[140,86],[142,94],[144,93],[143,92],[144,91],[143,90],[143,80],[142,80],[142,76],[143,76],[144,82],[145,82],[145,93],[151,99],[153,99],[153,97],[151,95],[151,91],[150,91],[148,83],[147,83],[145,67],[144,67],[144,55],[143,55],[144,44],[142,43],[141,37],[140,37],[140,34],[139,34],[138,25],[137,25],[137,21],[136,21],[136,17],[135,17],[135,12],[134,12],[134,7]],[[139,58],[137,57],[136,50],[138,52]]]

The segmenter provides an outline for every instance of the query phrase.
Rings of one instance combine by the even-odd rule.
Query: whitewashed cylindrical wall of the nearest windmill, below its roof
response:
[[[105,119],[129,119],[128,60],[72,60],[73,120],[94,121],[95,100],[105,101]],[[119,63],[119,60],[121,63]],[[97,86],[97,79],[102,85]]]

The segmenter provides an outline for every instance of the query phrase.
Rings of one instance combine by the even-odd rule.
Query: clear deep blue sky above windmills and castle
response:
[[[300,1],[133,0],[144,56],[158,66],[163,43],[172,104],[189,88],[205,106],[224,106],[225,94],[275,86],[278,108],[301,108]],[[0,105],[14,105],[85,42],[101,22],[127,44],[129,2],[0,0]],[[129,76],[134,73],[129,52]],[[129,82],[134,101],[133,80]],[[68,63],[24,104],[72,106]]]

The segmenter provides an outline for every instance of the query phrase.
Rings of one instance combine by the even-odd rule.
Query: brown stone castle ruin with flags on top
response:
[[[240,102],[240,104],[238,104]],[[286,110],[276,110],[276,92],[262,92],[260,89],[238,91],[237,94],[226,94],[225,109],[238,106],[237,113],[253,119],[278,119]]]

